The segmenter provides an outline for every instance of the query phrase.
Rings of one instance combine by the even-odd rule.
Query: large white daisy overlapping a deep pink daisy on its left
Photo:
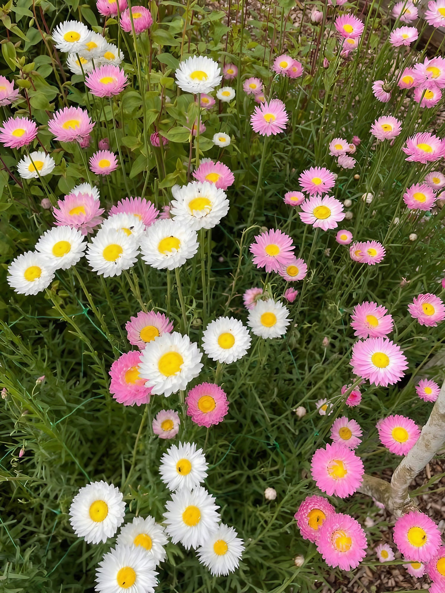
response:
[[[141,354],[139,377],[147,379],[155,396],[169,397],[187,387],[202,369],[202,352],[189,336],[164,333],[147,343]]]

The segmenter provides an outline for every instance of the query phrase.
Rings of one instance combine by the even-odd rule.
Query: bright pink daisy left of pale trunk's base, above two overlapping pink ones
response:
[[[312,479],[328,496],[346,498],[363,481],[364,467],[354,451],[339,443],[317,449],[311,461]]]

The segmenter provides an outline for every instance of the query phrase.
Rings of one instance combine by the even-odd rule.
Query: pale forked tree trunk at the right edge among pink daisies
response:
[[[364,474],[358,492],[373,496],[383,503],[396,517],[417,508],[409,498],[408,488],[412,480],[431,461],[445,443],[445,381],[434,404],[428,422],[422,428],[418,441],[396,467],[391,482]]]

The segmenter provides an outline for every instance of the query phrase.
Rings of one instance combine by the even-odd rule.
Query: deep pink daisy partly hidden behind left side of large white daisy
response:
[[[119,356],[110,369],[110,393],[124,406],[141,406],[150,401],[151,387],[145,387],[146,380],[139,376],[140,362],[141,352],[132,350]]]

